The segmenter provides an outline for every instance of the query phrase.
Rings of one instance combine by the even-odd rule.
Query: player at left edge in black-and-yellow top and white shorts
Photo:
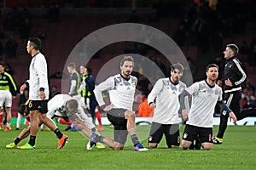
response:
[[[15,99],[17,94],[17,88],[15,81],[8,72],[4,71],[5,65],[0,63],[0,128],[3,127],[3,105],[5,105],[5,111],[7,114],[7,123],[4,131],[8,132],[11,125],[11,106],[12,99]]]

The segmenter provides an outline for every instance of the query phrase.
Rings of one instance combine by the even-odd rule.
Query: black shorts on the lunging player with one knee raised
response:
[[[107,111],[108,121],[113,124],[113,139],[120,144],[125,144],[127,140],[127,119],[125,119],[125,109],[111,109]]]

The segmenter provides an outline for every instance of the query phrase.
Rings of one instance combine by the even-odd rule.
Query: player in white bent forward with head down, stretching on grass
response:
[[[95,125],[90,121],[89,117],[86,116],[84,110],[79,106],[77,100],[73,99],[67,94],[58,94],[48,102],[47,116],[49,118],[63,117],[67,121],[73,122],[79,127],[84,135],[90,138],[90,133],[96,133]],[[41,124],[41,123],[40,123]],[[39,125],[40,126],[40,125]],[[26,127],[21,131],[19,136],[14,142],[7,144],[6,148],[15,148],[22,139],[25,139],[29,135],[30,126]],[[87,144],[87,150],[90,150],[91,142]],[[102,144],[96,144],[99,148],[104,147]]]

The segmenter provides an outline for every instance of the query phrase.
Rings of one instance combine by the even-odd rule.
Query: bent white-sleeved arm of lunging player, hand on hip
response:
[[[98,104],[102,107],[102,109],[105,109],[106,107],[106,104],[102,97],[102,92],[109,90],[111,88],[113,88],[113,77],[109,77],[105,82],[102,82],[99,85],[97,85],[93,91],[95,94],[96,100]]]

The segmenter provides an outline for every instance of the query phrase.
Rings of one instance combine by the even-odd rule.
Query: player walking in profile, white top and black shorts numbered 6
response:
[[[49,85],[47,63],[44,54],[41,54],[41,41],[38,37],[30,37],[26,44],[26,51],[32,56],[29,67],[29,80],[20,87],[20,94],[29,87],[29,112],[30,112],[30,139],[28,143],[19,146],[19,149],[32,150],[35,148],[38,133],[38,121],[43,122],[58,137],[60,150],[67,142],[67,136],[62,134],[55,123],[46,116],[47,101],[49,99]],[[38,119],[39,117],[39,119]]]

